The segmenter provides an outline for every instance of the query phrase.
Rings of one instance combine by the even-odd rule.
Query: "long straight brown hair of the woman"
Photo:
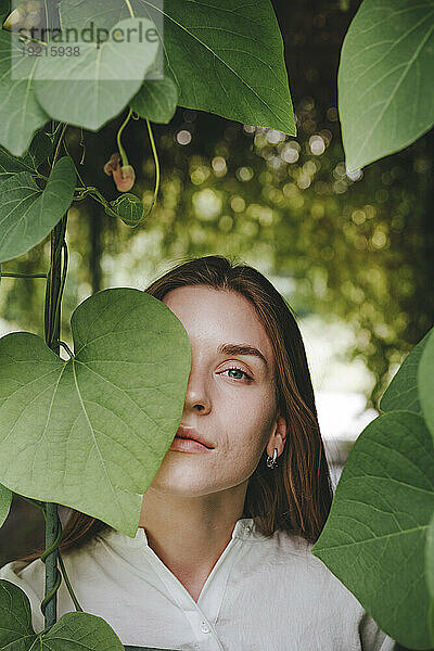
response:
[[[253,518],[264,535],[283,529],[315,542],[333,493],[305,347],[291,308],[259,271],[218,255],[177,265],[145,292],[162,301],[171,290],[187,285],[207,285],[245,296],[255,307],[275,354],[277,408],[286,420],[286,443],[276,469],[267,468],[267,454],[263,455],[250,477],[242,516]],[[110,525],[72,509],[59,549],[62,553],[82,547],[105,528]],[[30,562],[41,552],[20,560]]]

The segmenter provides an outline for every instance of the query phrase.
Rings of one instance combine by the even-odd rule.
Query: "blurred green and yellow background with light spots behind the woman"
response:
[[[69,210],[62,339],[71,345],[72,311],[101,289],[144,289],[174,263],[197,255],[251,264],[298,316],[329,458],[339,469],[405,355],[434,321],[434,136],[346,174],[336,77],[359,2],[272,4],[297,137],[181,107],[169,125],[154,125],[162,186],[148,222],[131,230],[91,200]],[[66,137],[84,179],[110,200],[117,192],[103,165],[116,151],[124,117],[99,133],[69,128]],[[135,192],[148,205],[154,162],[143,120],[131,120],[123,141],[136,168]],[[3,271],[44,272],[48,265],[46,240]],[[2,279],[0,334],[43,335],[43,280]],[[42,538],[39,514],[15,498],[0,532],[0,564]]]

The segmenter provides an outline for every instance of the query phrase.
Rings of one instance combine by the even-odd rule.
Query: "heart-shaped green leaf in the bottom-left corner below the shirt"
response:
[[[90,613],[65,613],[46,633],[36,634],[27,596],[0,580],[0,651],[124,651],[113,628]]]

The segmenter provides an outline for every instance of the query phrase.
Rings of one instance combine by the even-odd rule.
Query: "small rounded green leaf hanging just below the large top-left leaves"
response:
[[[178,104],[178,89],[169,78],[143,81],[129,105],[140,117],[154,123],[167,124],[174,117]]]

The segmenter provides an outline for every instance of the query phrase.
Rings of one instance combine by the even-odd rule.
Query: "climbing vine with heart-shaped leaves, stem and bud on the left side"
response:
[[[9,4],[1,4],[2,18]],[[122,649],[122,642],[99,617],[76,612],[56,622],[58,559],[76,610],[81,611],[58,551],[62,527],[56,505],[76,508],[135,536],[142,495],[181,418],[190,341],[162,302],[118,288],[94,293],[75,309],[71,319],[75,352],[69,350],[60,339],[68,265],[67,210],[73,202],[91,197],[129,227],[142,222],[159,187],[149,120],[169,122],[177,103],[293,135],[295,124],[282,39],[268,0],[253,9],[234,9],[227,0],[214,7],[169,1],[159,12],[167,20],[164,40],[159,10],[144,0],[132,0],[132,4],[129,0],[48,0],[38,7],[31,28],[22,22],[27,11],[23,2],[22,11],[14,10],[0,30],[0,117],[4,123],[0,263],[50,235],[50,269],[37,275],[47,280],[44,341],[28,332],[0,340],[0,519],[3,522],[8,514],[11,492],[43,513],[47,549],[41,556],[46,563],[41,610],[46,629],[33,630],[26,596],[0,582],[5,622],[0,647],[61,649],[67,641],[68,648],[78,649],[85,641],[95,651],[114,650]],[[194,26],[197,9],[205,27]],[[97,39],[84,38],[88,24],[97,29]],[[58,29],[52,30],[55,25]],[[59,46],[71,30],[80,34],[77,44]],[[150,31],[155,38],[146,38],[143,44],[140,35]],[[100,41],[103,33],[106,38]],[[128,38],[119,39],[125,34]],[[75,56],[73,65],[68,51]],[[214,84],[209,74],[218,75]],[[227,93],[237,101],[228,102]],[[118,152],[103,169],[113,176],[117,190],[127,194],[107,201],[99,188],[84,182],[65,132],[71,125],[98,131],[125,108],[127,117],[116,138]],[[136,171],[122,135],[131,117],[145,119],[155,162],[155,189],[146,213],[141,199],[129,192]],[[38,131],[50,118],[51,126]],[[76,177],[81,184],[76,186]],[[69,359],[61,358],[60,346]]]

